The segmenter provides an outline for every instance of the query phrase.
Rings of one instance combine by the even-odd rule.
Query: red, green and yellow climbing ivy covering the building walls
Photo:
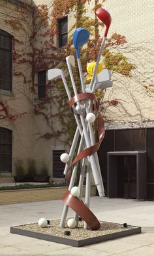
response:
[[[104,1],[102,1],[102,4]],[[19,45],[22,46],[24,44],[22,40],[19,41],[18,38],[16,38],[16,32],[19,32],[20,30],[23,32],[24,30],[22,22],[16,19],[5,20],[7,25],[11,26],[12,30],[14,30],[13,61],[16,65],[14,76],[22,77],[23,85],[29,85],[29,92],[31,93],[27,93],[26,90],[24,93],[29,102],[31,102],[33,114],[35,116],[40,115],[44,117],[46,125],[50,127],[48,133],[40,134],[40,137],[44,137],[45,139],[57,137],[60,140],[61,135],[65,134],[65,142],[69,142],[73,137],[75,122],[72,113],[69,111],[67,95],[61,80],[57,79],[57,81],[54,82],[48,81],[46,85],[46,97],[42,100],[38,100],[36,75],[39,70],[48,70],[49,68],[54,67],[63,68],[67,76],[67,83],[70,91],[72,90],[67,66],[65,64],[65,57],[69,54],[74,54],[74,47],[72,47],[72,32],[76,27],[84,27],[89,30],[91,35],[87,47],[81,49],[82,66],[84,74],[86,74],[87,62],[95,61],[99,53],[102,39],[102,36],[99,33],[99,27],[103,26],[96,15],[94,15],[93,18],[86,15],[86,8],[90,8],[90,3],[91,0],[63,0],[63,4],[61,4],[61,0],[54,0],[51,8],[47,7],[45,4],[33,7],[33,27],[31,28],[31,35],[29,36],[30,47],[29,49],[26,49],[26,53],[18,53],[17,51]],[[93,3],[93,12],[95,13],[98,8],[102,7],[102,4],[100,4],[98,0],[93,1]],[[29,6],[27,5],[25,5],[25,11],[21,9],[21,15],[24,19],[26,19],[27,9],[29,9]],[[55,38],[58,34],[57,20],[63,18],[63,16],[69,15],[71,11],[74,13],[76,22],[72,24],[72,27],[70,28],[67,45],[57,49],[55,44]],[[24,32],[29,35],[25,30]],[[104,57],[103,65],[104,68],[130,76],[134,65],[129,63],[123,54],[114,53],[112,51],[113,46],[116,47],[117,45],[123,45],[125,43],[127,43],[125,36],[114,33],[106,41],[102,53]],[[32,72],[30,79],[25,75],[25,72],[20,69],[21,64],[26,64],[27,67],[31,66]],[[73,71],[76,85],[80,92],[80,80],[77,65]],[[97,96],[101,99],[103,95],[104,92],[99,90]],[[118,101],[112,99],[107,103],[115,106],[118,104]],[[21,114],[17,114],[16,118],[18,116],[21,116]],[[12,120],[15,120],[15,117],[12,118]],[[59,122],[58,129],[54,126],[55,120]]]

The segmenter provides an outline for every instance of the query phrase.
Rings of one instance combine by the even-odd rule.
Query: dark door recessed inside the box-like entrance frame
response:
[[[117,198],[136,198],[136,156],[117,157]]]

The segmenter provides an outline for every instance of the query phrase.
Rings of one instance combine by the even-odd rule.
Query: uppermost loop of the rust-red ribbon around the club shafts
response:
[[[70,99],[70,107],[80,100],[95,100],[95,102],[98,102],[97,96],[93,93],[79,93]]]

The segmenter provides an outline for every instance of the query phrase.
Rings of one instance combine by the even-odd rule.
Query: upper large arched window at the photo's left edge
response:
[[[12,36],[0,30],[0,89],[12,90]]]

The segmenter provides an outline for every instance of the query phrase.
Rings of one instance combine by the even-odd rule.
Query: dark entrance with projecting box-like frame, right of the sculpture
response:
[[[146,199],[146,151],[107,153],[108,198]]]

